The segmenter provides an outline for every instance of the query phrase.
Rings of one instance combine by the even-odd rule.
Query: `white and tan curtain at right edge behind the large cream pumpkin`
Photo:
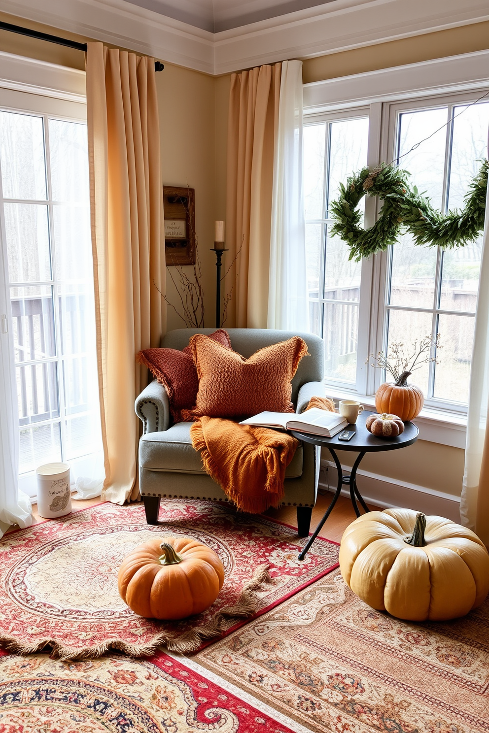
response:
[[[489,546],[489,187],[468,396],[466,465],[460,517]]]

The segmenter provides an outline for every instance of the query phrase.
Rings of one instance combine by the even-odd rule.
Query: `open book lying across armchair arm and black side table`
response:
[[[298,415],[297,413],[263,412],[240,422],[240,425],[258,425],[274,427],[277,430],[298,430],[332,438],[348,425],[348,421],[339,413],[332,413],[320,408],[312,408]]]

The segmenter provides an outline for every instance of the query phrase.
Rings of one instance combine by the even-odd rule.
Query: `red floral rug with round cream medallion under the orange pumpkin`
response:
[[[223,561],[224,586],[205,613],[157,622],[133,614],[120,599],[122,558],[155,534],[191,535]],[[233,609],[252,578],[257,616],[337,567],[338,545],[320,538],[304,562],[298,561],[305,541],[266,517],[182,499],[164,502],[158,526],[147,525],[141,504],[98,504],[7,534],[0,542],[0,643],[14,652],[49,649],[54,657],[72,660],[109,649],[149,656],[161,644],[195,651],[202,644],[194,644],[196,633],[202,632],[200,639],[222,637],[249,620],[247,614],[237,621]],[[271,580],[260,585],[260,568],[267,566]],[[218,630],[206,633],[217,617]],[[187,648],[190,639],[194,646],[188,641]]]

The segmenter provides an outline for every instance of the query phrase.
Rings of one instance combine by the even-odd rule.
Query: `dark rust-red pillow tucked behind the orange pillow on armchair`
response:
[[[219,328],[205,338],[211,339],[226,350],[231,349],[229,334],[224,328]],[[170,402],[170,413],[174,422],[189,421],[193,418],[184,417],[182,410],[190,410],[196,403],[199,389],[199,377],[194,364],[190,346],[183,351],[177,349],[144,349],[138,354],[140,364],[145,364],[166,389]]]

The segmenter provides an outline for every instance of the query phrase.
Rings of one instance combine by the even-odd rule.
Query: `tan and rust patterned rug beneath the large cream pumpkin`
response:
[[[402,622],[338,571],[185,664],[317,733],[489,731],[488,601],[453,622]]]

